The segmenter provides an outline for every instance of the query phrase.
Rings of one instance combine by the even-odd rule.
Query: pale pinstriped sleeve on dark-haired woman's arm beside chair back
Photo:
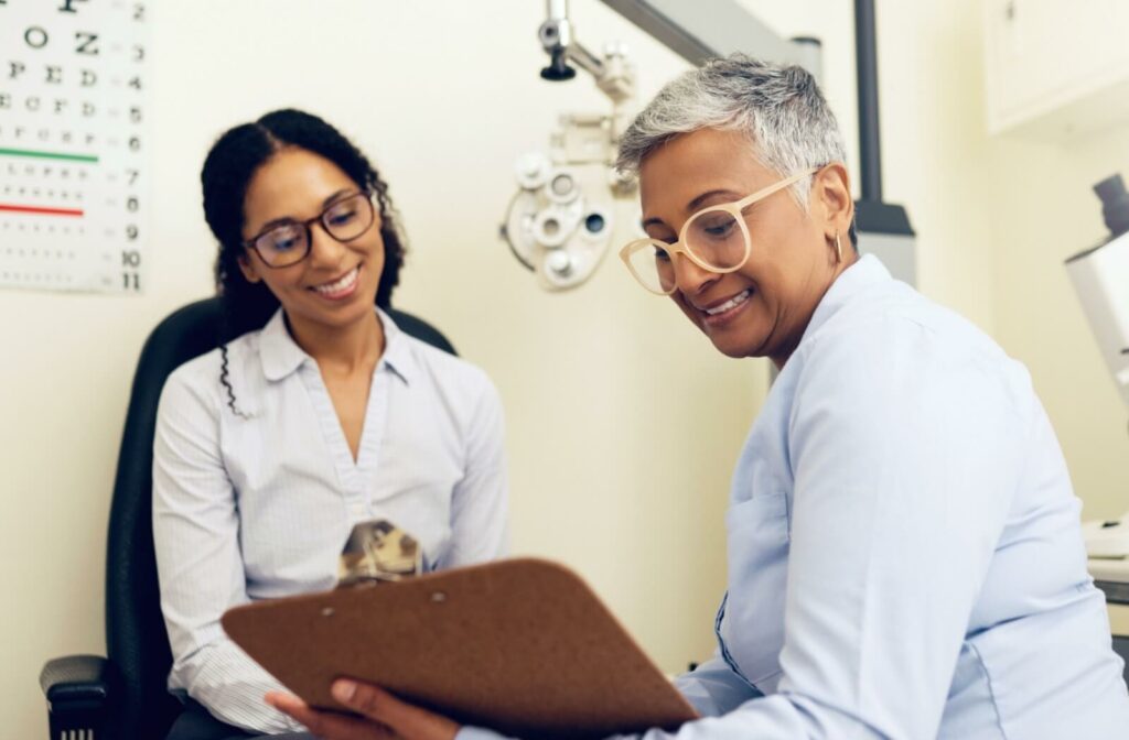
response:
[[[248,598],[235,492],[219,452],[218,397],[208,396],[174,373],[157,412],[152,530],[173,651],[170,684],[229,724],[264,733],[301,730],[263,701],[282,686],[219,624]]]

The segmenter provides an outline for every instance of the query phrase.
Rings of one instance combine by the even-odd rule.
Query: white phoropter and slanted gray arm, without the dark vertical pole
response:
[[[819,78],[819,42],[779,38],[736,0],[603,2],[694,64],[753,51],[765,59],[803,64]],[[633,199],[636,192],[634,183],[614,169],[634,96],[634,68],[621,44],[610,44],[599,56],[583,46],[568,6],[568,0],[546,0],[546,18],[537,37],[549,64],[541,77],[574,79],[579,67],[592,74],[612,109],[562,115],[549,153],[527,153],[515,167],[519,190],[500,232],[514,256],[546,290],[575,288],[592,276],[615,231],[615,213],[621,210],[616,201]],[[633,215],[637,221],[637,210]]]

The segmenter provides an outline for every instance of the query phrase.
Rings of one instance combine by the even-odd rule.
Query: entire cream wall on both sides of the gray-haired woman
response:
[[[746,5],[784,34],[823,39],[825,88],[854,151],[851,3]],[[920,287],[1029,364],[1086,513],[1129,509],[1126,409],[1061,270],[1100,237],[1087,188],[1123,168],[1129,139],[1069,149],[988,139],[980,3],[878,6],[886,200],[920,234]],[[7,732],[45,732],[35,685],[45,659],[104,649],[105,522],[132,365],[159,317],[210,290],[196,180],[209,142],[283,105],[336,122],[383,168],[412,246],[397,303],[443,327],[499,386],[516,552],[579,570],[665,670],[703,657],[724,588],[729,469],[764,365],[716,355],[614,257],[588,285],[549,296],[498,241],[515,157],[546,144],[558,113],[604,106],[587,80],[537,78],[543,3],[156,10],[148,292],[0,292],[0,342],[15,358],[0,363]],[[644,97],[684,69],[596,0],[572,14],[586,44],[630,44]],[[264,41],[248,43],[256,34]]]

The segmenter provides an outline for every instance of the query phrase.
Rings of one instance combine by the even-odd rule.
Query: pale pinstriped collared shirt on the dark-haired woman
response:
[[[388,519],[428,567],[507,549],[498,394],[478,368],[400,331],[384,312],[356,462],[317,363],[280,310],[165,385],[154,444],[154,539],[173,650],[169,688],[257,732],[301,729],[263,702],[279,689],[224,634],[220,616],[259,599],[332,589],[352,526]]]

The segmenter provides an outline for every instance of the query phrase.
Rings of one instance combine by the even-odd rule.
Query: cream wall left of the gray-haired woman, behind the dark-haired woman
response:
[[[548,146],[559,113],[605,107],[586,79],[539,78],[543,3],[198,0],[152,10],[148,291],[0,292],[11,352],[0,363],[0,567],[11,604],[0,613],[0,734],[45,733],[44,660],[104,650],[108,492],[133,363],[161,316],[210,292],[215,247],[198,185],[209,143],[286,105],[324,115],[373,156],[411,240],[397,305],[434,320],[500,388],[515,552],[576,567],[663,669],[706,657],[730,466],[767,372],[711,351],[614,257],[590,284],[551,296],[498,239],[515,159]],[[595,47],[632,46],[642,95],[685,68],[595,0],[574,12]]]

